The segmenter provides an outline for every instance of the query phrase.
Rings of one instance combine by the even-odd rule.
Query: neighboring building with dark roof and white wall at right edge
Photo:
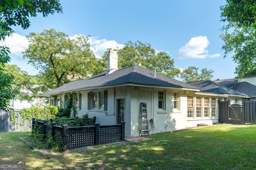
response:
[[[238,92],[243,92],[244,94],[250,96],[251,100],[256,100],[256,77],[245,77],[240,81],[238,81],[237,78],[222,80],[217,79],[214,82],[219,83],[222,86],[226,86],[230,89],[236,90]]]

